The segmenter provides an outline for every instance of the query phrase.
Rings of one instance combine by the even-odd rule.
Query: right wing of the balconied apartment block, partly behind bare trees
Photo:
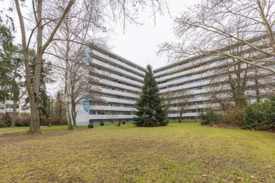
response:
[[[249,41],[261,44],[265,43],[265,39],[265,36],[259,36]],[[248,58],[264,58],[265,67],[274,67],[274,58],[252,51],[245,45],[223,47],[221,51],[234,51],[235,54]],[[182,115],[184,120],[197,120],[199,113],[207,108],[221,110],[221,103],[230,105],[238,102],[232,100],[233,90],[240,94],[241,90],[245,91],[243,98],[248,102],[262,100],[274,94],[275,78],[272,73],[223,55],[194,56],[155,69],[154,76],[160,94],[168,96],[170,100],[170,120],[177,120],[179,116],[178,103],[186,104]],[[232,89],[232,85],[235,89]],[[239,91],[236,87],[239,87]]]

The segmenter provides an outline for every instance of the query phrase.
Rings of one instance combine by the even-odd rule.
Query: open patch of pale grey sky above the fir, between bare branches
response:
[[[139,16],[144,24],[128,25],[124,33],[118,23],[109,39],[111,51],[143,67],[146,67],[148,63],[153,66],[153,69],[166,65],[166,58],[156,54],[157,45],[176,39],[173,34],[173,17],[195,2],[196,0],[167,0],[171,17],[168,14],[159,15],[154,23],[153,17],[149,18],[151,11],[146,10]]]

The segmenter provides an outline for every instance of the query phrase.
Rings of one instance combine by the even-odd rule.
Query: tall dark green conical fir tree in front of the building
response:
[[[153,71],[151,65],[147,65],[146,74],[144,77],[144,86],[142,87],[142,94],[137,100],[135,121],[133,124],[137,127],[156,127],[165,126],[166,112],[163,109],[163,100],[159,96],[159,89],[157,82],[153,78]]]

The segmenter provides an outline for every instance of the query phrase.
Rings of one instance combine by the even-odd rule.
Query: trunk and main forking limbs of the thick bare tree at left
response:
[[[26,87],[28,90],[28,95],[30,98],[30,111],[31,111],[31,122],[30,122],[30,129],[29,133],[40,133],[40,122],[39,122],[39,85],[40,85],[40,78],[41,78],[41,70],[42,70],[42,61],[43,61],[43,54],[47,47],[54,39],[54,35],[56,34],[58,28],[60,27],[61,23],[63,22],[66,14],[69,12],[72,5],[75,3],[74,0],[70,0],[67,3],[66,8],[61,13],[61,16],[58,17],[57,21],[52,19],[51,23],[55,23],[52,29],[52,33],[50,34],[47,39],[44,38],[43,41],[43,28],[47,26],[48,22],[43,21],[43,1],[32,1],[33,4],[33,16],[35,18],[35,26],[32,28],[32,32],[27,39],[27,30],[25,30],[25,20],[23,18],[23,14],[21,12],[21,6],[19,4],[19,0],[15,0],[15,5],[17,8],[17,14],[19,17],[19,23],[21,28],[21,37],[22,37],[22,46],[23,46],[23,60],[25,64],[25,81]],[[30,49],[30,41],[32,36],[34,35],[34,31],[36,31],[36,56],[35,56],[35,69],[34,69],[34,80],[33,84],[31,83],[31,74],[30,74],[30,61],[28,57],[28,50]],[[43,43],[44,42],[44,43]]]

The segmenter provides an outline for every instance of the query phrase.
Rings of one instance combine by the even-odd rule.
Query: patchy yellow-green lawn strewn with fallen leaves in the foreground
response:
[[[0,136],[0,182],[275,182],[275,134],[202,127],[50,127]]]

